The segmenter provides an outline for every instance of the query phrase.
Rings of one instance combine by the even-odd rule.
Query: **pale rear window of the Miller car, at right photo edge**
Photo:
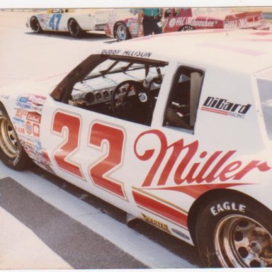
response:
[[[272,68],[266,69],[257,76],[263,120],[270,140],[272,140]]]

